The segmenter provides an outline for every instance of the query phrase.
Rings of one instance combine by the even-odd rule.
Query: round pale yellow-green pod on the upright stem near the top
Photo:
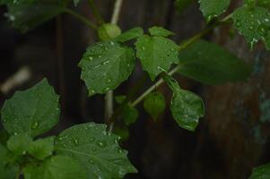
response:
[[[121,29],[118,27],[118,25],[112,23],[104,23],[100,26],[98,33],[100,39],[105,41],[118,37],[118,35],[121,34]]]

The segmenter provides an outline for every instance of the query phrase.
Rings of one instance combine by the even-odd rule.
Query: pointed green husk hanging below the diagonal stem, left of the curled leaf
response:
[[[166,101],[160,92],[152,92],[144,99],[144,110],[151,115],[154,120],[163,113],[165,107]]]

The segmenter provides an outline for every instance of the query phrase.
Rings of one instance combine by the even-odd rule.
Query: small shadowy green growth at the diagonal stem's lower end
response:
[[[130,124],[135,124],[138,118],[138,111],[135,107],[131,107],[130,105],[126,105],[123,107],[122,116],[124,119],[124,123],[129,126]]]

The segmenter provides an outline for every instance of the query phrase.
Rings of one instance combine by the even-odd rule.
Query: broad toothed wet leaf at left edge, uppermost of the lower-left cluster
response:
[[[54,127],[60,115],[58,95],[46,79],[29,90],[17,91],[4,102],[2,122],[10,134],[37,136]]]

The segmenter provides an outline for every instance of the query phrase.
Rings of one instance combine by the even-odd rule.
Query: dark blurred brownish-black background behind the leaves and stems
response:
[[[97,0],[104,18],[109,21],[113,0]],[[232,1],[230,10],[241,1]],[[76,11],[93,19],[87,4]],[[73,124],[89,121],[102,123],[104,96],[87,98],[87,90],[80,80],[77,67],[85,48],[97,40],[93,30],[69,15],[61,15],[36,30],[22,34],[4,18],[0,7],[0,85],[15,72],[26,70],[30,79],[0,93],[0,107],[15,90],[25,90],[47,77],[61,95],[61,123],[52,131],[57,133]],[[203,30],[205,20],[197,3],[179,14],[173,0],[125,0],[120,14],[122,30],[142,26],[146,30],[160,25],[176,32],[178,42]],[[253,66],[245,82],[222,86],[205,86],[196,81],[178,77],[180,85],[202,96],[206,115],[200,120],[196,132],[188,132],[174,122],[169,107],[154,123],[139,106],[140,115],[130,127],[129,140],[123,147],[139,170],[130,179],[242,179],[248,178],[251,168],[270,161],[270,54],[258,44],[250,52],[244,38],[231,35],[231,26],[213,30],[205,39],[226,47]],[[214,56],[213,56],[214,57]],[[123,83],[117,95],[126,94],[144,72],[136,68],[133,76]],[[141,94],[152,82],[144,83]],[[170,101],[170,90],[161,86]]]

